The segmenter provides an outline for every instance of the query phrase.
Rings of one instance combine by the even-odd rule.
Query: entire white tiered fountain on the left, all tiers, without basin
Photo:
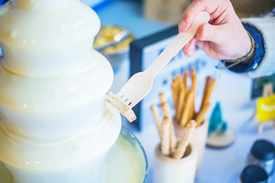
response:
[[[105,102],[113,70],[92,49],[99,30],[79,0],[0,8],[0,160],[16,183],[105,181],[121,117]]]

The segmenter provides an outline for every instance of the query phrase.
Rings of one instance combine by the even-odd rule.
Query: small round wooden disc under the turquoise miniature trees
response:
[[[223,149],[230,146],[235,141],[235,133],[232,129],[219,134],[217,132],[207,137],[206,146],[214,149]]]

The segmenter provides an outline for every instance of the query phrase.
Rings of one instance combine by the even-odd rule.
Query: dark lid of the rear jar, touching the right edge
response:
[[[251,153],[260,160],[269,161],[275,158],[275,146],[267,140],[258,140],[253,144]]]

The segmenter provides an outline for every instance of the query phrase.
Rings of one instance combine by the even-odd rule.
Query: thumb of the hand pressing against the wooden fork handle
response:
[[[198,40],[211,41],[214,43],[221,42],[225,35],[220,26],[221,25],[211,25],[209,23],[202,24],[196,33]]]

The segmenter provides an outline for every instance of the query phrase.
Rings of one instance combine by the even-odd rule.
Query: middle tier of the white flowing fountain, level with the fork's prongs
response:
[[[83,72],[66,77],[27,78],[1,65],[2,127],[28,139],[55,141],[95,125],[106,107],[113,70],[100,53],[90,54],[95,60]]]

